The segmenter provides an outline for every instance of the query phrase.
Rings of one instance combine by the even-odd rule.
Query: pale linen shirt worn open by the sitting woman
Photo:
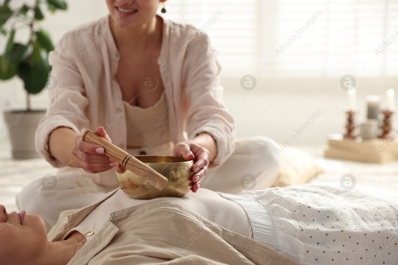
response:
[[[55,167],[65,165],[51,157],[47,143],[49,134],[62,126],[79,134],[86,128],[103,126],[112,143],[126,150],[128,121],[115,78],[123,55],[117,50],[110,27],[109,15],[85,24],[66,33],[49,54],[54,86],[35,144],[37,152]],[[181,52],[181,45],[185,52]],[[211,134],[219,152],[214,165],[234,151],[235,132],[234,120],[222,101],[216,55],[206,34],[164,19],[158,64],[168,102],[170,137],[177,143],[200,132]],[[117,186],[115,170],[89,174],[82,168],[67,167],[58,174],[82,174],[96,184]]]

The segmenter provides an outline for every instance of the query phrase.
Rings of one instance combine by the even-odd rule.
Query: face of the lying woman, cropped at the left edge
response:
[[[8,214],[0,205],[1,264],[35,264],[47,244],[46,226],[39,215]]]

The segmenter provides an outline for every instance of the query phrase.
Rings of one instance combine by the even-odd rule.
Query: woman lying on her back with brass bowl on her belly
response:
[[[122,190],[38,215],[0,205],[1,264],[397,264],[395,194],[307,184],[240,195],[200,189],[131,199]],[[274,251],[275,250],[275,251]],[[278,253],[279,252],[279,253]],[[296,262],[296,263],[295,263]]]

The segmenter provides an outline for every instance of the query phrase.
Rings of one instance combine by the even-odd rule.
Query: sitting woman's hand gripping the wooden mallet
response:
[[[103,127],[98,127],[96,133],[107,141],[112,142]],[[103,153],[103,147],[83,141],[82,135],[78,135],[75,138],[72,155],[74,155],[76,163],[87,172],[96,174],[117,166],[117,162]]]

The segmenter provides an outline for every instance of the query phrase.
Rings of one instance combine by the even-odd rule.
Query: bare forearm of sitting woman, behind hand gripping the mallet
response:
[[[74,130],[60,127],[51,132],[49,137],[49,151],[62,164],[72,167],[81,167],[75,162],[71,151],[75,145],[75,138],[78,136]]]

